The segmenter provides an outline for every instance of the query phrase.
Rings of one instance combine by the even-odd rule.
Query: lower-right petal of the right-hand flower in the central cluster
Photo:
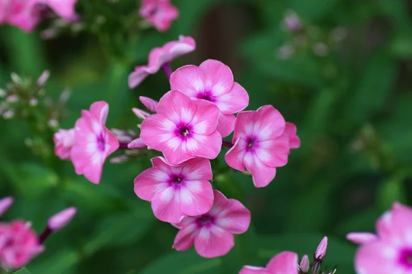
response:
[[[286,135],[256,144],[255,157],[266,166],[284,166],[288,162],[288,155],[289,139]]]

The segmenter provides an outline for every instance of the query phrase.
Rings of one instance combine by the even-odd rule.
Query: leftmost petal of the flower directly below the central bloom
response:
[[[135,193],[145,201],[152,201],[153,197],[168,188],[170,177],[168,173],[158,168],[146,169],[135,179]]]

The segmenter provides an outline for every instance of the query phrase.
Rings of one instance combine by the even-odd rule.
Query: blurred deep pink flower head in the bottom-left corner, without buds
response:
[[[0,223],[0,262],[5,267],[20,269],[43,250],[29,223]]]

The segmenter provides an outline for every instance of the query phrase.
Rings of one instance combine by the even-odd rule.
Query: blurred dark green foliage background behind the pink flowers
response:
[[[130,90],[128,73],[146,64],[152,47],[179,34],[197,42],[194,53],[172,62],[176,69],[213,58],[228,64],[250,95],[248,110],[272,104],[297,124],[301,148],[277,169],[266,188],[236,171],[214,180],[227,197],[252,212],[246,234],[223,258],[206,260],[193,250],[172,250],[177,229],[155,219],[150,204],[133,192],[133,179],[150,166],[148,156],[104,166],[93,185],[71,162],[27,147],[27,121],[0,119],[0,197],[16,202],[5,220],[23,218],[41,232],[49,216],[68,206],[78,214],[46,242],[47,251],[27,269],[33,274],[238,273],[264,265],[279,251],[310,257],[330,237],[326,264],[354,273],[353,231],[374,231],[375,219],[393,201],[412,201],[412,24],[402,0],[172,0],[180,17],[168,32],[140,30],[135,0],[82,1],[83,30],[62,29],[42,40],[0,27],[0,87],[10,73],[51,77],[47,94],[73,93],[60,127],[73,127],[94,101],[110,105],[108,127],[137,130],[131,108],[139,95],[159,99],[169,90],[163,73]],[[288,32],[288,10],[301,19]],[[102,20],[103,18],[103,20]],[[52,144],[52,135],[43,136]],[[226,149],[222,150],[222,155]],[[49,153],[49,154],[47,154]],[[222,157],[220,157],[222,160]]]

